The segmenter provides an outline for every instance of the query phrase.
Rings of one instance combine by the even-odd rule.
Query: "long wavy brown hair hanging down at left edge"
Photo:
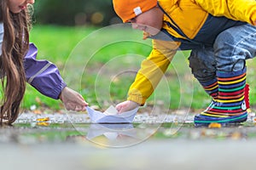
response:
[[[1,0],[0,21],[3,22],[3,47],[0,68],[3,71],[3,99],[0,105],[0,124],[15,122],[26,90],[23,59],[29,45],[29,23],[26,10],[19,14],[9,11],[8,1]]]

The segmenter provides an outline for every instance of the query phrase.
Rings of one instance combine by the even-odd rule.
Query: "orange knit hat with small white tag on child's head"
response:
[[[113,0],[113,8],[123,22],[131,20],[156,5],[157,0]]]

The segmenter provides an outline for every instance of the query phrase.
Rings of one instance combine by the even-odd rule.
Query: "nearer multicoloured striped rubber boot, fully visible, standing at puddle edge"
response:
[[[225,124],[247,120],[246,71],[244,68],[236,72],[217,72],[218,98],[213,99],[206,111],[195,116],[195,126],[206,126],[212,122]]]

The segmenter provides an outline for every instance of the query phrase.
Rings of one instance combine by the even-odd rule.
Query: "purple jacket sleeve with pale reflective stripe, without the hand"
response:
[[[28,53],[24,59],[26,82],[36,88],[38,92],[52,99],[59,99],[59,95],[67,84],[53,63],[48,60],[38,60],[38,48],[30,43]]]

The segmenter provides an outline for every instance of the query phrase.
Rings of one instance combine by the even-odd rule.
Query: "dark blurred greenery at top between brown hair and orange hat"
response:
[[[40,25],[108,26],[121,22],[112,0],[43,0],[34,5],[34,19]]]

